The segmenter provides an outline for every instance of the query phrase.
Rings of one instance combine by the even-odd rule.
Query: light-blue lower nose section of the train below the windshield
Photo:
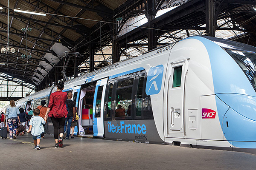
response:
[[[242,94],[216,96],[230,107],[222,121],[225,138],[228,141],[256,142],[256,97]]]

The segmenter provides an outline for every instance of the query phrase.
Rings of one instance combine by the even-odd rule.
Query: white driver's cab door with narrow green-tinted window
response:
[[[188,61],[173,62],[169,65],[166,96],[166,137],[185,136],[184,92]]]

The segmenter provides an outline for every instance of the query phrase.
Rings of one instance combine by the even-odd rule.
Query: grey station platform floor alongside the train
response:
[[[54,147],[53,135],[34,149],[31,134],[0,139],[1,170],[206,170],[255,169],[256,155],[75,137]]]

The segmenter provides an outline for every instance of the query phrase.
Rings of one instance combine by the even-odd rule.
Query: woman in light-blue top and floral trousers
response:
[[[19,114],[20,111],[15,107],[14,100],[11,100],[10,106],[6,109],[10,139],[16,139],[18,121],[20,122]]]

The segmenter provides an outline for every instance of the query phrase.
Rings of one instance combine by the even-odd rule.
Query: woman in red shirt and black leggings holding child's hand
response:
[[[64,82],[60,81],[57,85],[57,91],[50,95],[49,105],[46,115],[49,113],[53,124],[53,135],[55,139],[55,147],[62,147],[65,118],[67,117],[66,99],[67,93],[62,92]],[[50,111],[51,110],[51,111]],[[49,112],[50,111],[50,112]],[[58,138],[58,136],[60,136]]]

